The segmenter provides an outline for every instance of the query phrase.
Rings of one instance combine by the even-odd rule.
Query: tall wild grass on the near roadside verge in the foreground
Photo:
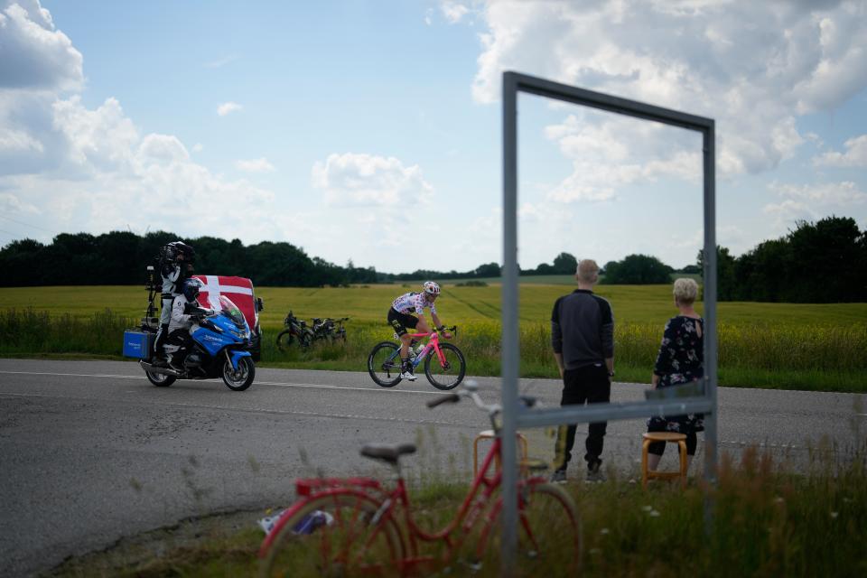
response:
[[[421,437],[430,443],[426,435]],[[723,453],[713,486],[691,480],[685,490],[667,482],[645,490],[635,483],[637,471],[609,471],[609,480],[602,484],[567,484],[564,489],[582,518],[581,575],[867,575],[867,440],[856,437],[861,442],[855,447],[823,443],[813,448],[806,473],[795,473],[787,462],[747,448],[737,460]],[[431,461],[438,452],[442,450],[430,447],[428,457],[418,459]],[[411,489],[414,512],[423,527],[444,527],[465,495],[466,477],[451,475],[452,465],[442,461],[422,470],[433,470],[434,475],[420,479]],[[704,517],[705,496],[713,504],[710,526]],[[556,517],[550,519],[553,530],[561,523]],[[116,548],[73,558],[52,574],[253,576],[263,536],[252,531],[252,520],[247,524],[238,530],[223,522],[223,532],[206,532],[196,540],[170,537],[160,547]],[[472,539],[463,541],[475,544]],[[496,542],[490,546],[492,555],[472,575],[500,575],[498,548]],[[566,576],[569,554],[546,555],[545,565],[551,570],[545,575]],[[459,562],[443,575],[466,572],[467,566]],[[517,575],[521,575],[519,568]],[[316,573],[294,576],[318,578]]]

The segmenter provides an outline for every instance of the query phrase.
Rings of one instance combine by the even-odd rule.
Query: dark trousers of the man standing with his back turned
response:
[[[587,404],[609,403],[611,401],[611,380],[608,378],[608,368],[588,365],[578,369],[566,369],[563,372],[563,397],[560,406],[583,406]],[[599,462],[602,453],[602,441],[608,422],[590,424],[585,443],[584,460],[591,467]],[[572,449],[575,445],[575,430],[577,426],[561,425],[557,430],[554,463],[558,470],[565,470],[572,459]]]

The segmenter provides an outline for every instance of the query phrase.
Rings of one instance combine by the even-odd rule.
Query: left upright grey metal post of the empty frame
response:
[[[502,273],[503,408],[517,408],[517,89],[515,75],[503,74],[503,273]],[[503,534],[501,575],[508,576],[517,549],[517,412],[503,411],[502,467]]]

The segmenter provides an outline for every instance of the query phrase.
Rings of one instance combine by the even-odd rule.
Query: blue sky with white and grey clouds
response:
[[[716,234],[867,229],[867,2],[0,0],[0,246],[169,230],[502,262],[504,70],[713,118]],[[518,263],[703,247],[701,137],[518,98]]]

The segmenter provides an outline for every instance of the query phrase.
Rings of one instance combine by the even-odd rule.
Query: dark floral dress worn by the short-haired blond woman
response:
[[[701,335],[699,335],[701,329]],[[653,372],[657,387],[679,386],[704,378],[704,319],[678,315],[666,323]],[[704,414],[656,416],[648,431],[692,433],[704,430]]]

